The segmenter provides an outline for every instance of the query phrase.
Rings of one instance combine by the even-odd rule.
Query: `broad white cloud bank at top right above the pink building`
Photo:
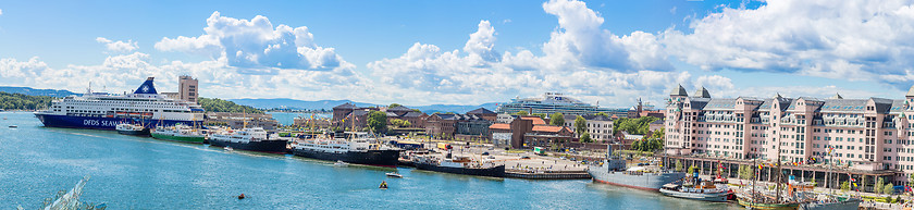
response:
[[[914,9],[905,0],[771,0],[668,29],[662,42],[705,70],[732,69],[888,82],[910,87]],[[906,84],[905,84],[906,83]]]

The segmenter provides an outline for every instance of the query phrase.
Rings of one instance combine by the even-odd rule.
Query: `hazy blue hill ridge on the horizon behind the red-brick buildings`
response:
[[[373,104],[367,102],[355,102],[351,100],[318,100],[318,101],[305,101],[305,100],[295,100],[295,99],[230,99],[230,101],[250,106],[258,109],[271,109],[271,108],[289,108],[289,109],[308,109],[308,110],[331,110],[333,107],[349,102],[354,103],[358,107],[375,107],[375,106],[387,106],[387,104]],[[492,111],[495,111],[495,103],[483,103],[479,106],[458,106],[458,104],[431,104],[431,106],[409,106],[405,104],[410,109],[419,109],[425,113],[435,113],[435,112],[454,112],[454,113],[466,113],[468,111],[485,108]]]

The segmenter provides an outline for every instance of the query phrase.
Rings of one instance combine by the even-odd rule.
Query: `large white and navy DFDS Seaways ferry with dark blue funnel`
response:
[[[143,124],[148,128],[201,124],[203,108],[194,102],[171,99],[156,91],[153,77],[133,94],[88,92],[54,100],[35,116],[48,127],[114,129],[118,124]]]

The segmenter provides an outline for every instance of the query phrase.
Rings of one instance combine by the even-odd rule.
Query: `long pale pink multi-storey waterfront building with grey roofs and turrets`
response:
[[[667,101],[665,151],[738,161],[733,164],[779,158],[789,165],[840,165],[845,175],[907,184],[914,173],[912,102],[914,87],[904,99],[844,99],[837,94],[819,99],[712,98],[704,87],[689,96],[678,86]]]

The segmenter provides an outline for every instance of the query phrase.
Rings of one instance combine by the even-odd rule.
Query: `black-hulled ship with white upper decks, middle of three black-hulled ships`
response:
[[[319,135],[294,140],[292,153],[319,160],[396,168],[400,150],[373,141],[368,133]]]

